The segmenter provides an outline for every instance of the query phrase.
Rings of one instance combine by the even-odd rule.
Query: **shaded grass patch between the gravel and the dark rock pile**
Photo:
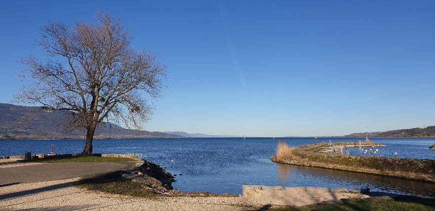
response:
[[[115,171],[101,176],[77,181],[76,186],[88,190],[101,191],[111,194],[128,195],[134,197],[164,196],[146,189],[141,183],[123,178],[122,171]]]

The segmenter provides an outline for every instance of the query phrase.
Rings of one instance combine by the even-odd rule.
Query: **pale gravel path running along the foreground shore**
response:
[[[305,205],[347,197],[354,193],[262,191],[252,197],[137,198],[92,192],[72,186],[79,178],[20,183],[0,187],[0,210],[247,210],[272,205]]]

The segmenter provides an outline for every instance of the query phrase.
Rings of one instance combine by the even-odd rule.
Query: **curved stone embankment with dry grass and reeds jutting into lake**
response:
[[[353,145],[353,142],[334,142],[334,144]],[[435,160],[398,157],[358,156],[319,152],[326,142],[288,147],[279,142],[276,155],[270,157],[274,162],[329,168],[358,173],[397,177],[435,183]],[[362,141],[361,146],[382,146],[372,141]]]

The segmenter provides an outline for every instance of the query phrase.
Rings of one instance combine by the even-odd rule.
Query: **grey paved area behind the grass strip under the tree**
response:
[[[135,161],[121,162],[0,162],[0,187],[10,183],[29,183],[57,179],[89,177],[123,169]],[[7,166],[7,167],[6,167]]]

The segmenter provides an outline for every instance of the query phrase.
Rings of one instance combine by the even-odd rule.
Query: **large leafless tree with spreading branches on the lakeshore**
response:
[[[150,101],[164,87],[165,66],[153,53],[135,51],[130,31],[120,19],[97,14],[97,24],[68,27],[49,22],[36,45],[46,55],[22,60],[32,84],[17,100],[43,109],[70,112],[70,127],[86,129],[82,155],[92,153],[96,126],[105,121],[141,128],[149,118]]]

